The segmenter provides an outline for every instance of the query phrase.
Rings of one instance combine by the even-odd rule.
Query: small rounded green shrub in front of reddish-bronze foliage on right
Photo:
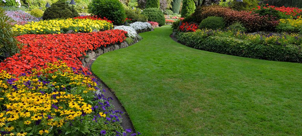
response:
[[[226,22],[221,17],[207,17],[206,19],[202,20],[199,24],[199,29],[208,28],[208,29],[223,29],[226,26]]]

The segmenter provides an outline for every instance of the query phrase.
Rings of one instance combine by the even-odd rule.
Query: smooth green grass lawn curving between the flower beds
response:
[[[212,53],[169,26],[105,53],[92,71],[143,135],[302,135],[302,64]]]

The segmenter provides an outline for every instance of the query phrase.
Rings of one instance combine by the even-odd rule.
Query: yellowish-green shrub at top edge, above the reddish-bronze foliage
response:
[[[249,10],[258,6],[259,0],[243,0],[243,2],[237,2],[233,0],[230,7],[234,10],[242,11]]]

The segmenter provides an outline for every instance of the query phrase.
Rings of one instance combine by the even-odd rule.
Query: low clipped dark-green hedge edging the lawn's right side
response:
[[[301,43],[282,45],[243,40],[236,37],[214,34],[214,31],[196,31],[176,34],[177,40],[186,46],[210,52],[229,54],[263,60],[302,63]],[[289,38],[289,37],[288,37]]]

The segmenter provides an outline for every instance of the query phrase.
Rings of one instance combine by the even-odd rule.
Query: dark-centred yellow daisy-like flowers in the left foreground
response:
[[[56,135],[65,129],[67,133],[73,129],[70,124],[81,124],[93,112],[97,86],[83,71],[61,61],[18,77],[1,71],[0,131],[7,135]],[[106,117],[103,112],[96,114]]]

